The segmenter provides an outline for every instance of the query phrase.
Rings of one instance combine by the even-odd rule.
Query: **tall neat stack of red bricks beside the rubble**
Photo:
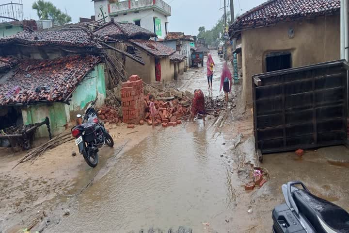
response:
[[[132,75],[122,84],[121,102],[123,121],[127,124],[139,124],[144,116],[143,81],[138,75]]]

